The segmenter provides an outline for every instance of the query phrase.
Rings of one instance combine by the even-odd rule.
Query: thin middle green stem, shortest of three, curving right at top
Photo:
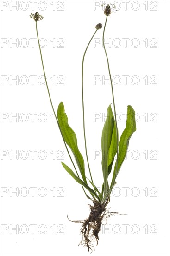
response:
[[[96,29],[96,31],[94,32],[92,38],[90,39],[89,43],[88,43],[88,46],[89,44],[91,43],[91,40],[94,38],[94,35],[95,33],[97,32],[98,28]],[[85,133],[85,119],[84,119],[84,57],[85,57],[85,54],[87,52],[87,49],[88,49],[88,46],[86,47],[86,50],[84,52],[84,55],[83,55],[83,58],[82,58],[82,113],[83,113],[83,131],[84,131],[84,143],[85,143],[85,150],[86,150],[86,158],[87,158],[87,162],[88,162],[88,152],[87,152],[87,144],[86,144],[86,133]],[[90,173],[90,177],[91,177],[91,181],[93,182],[93,179],[92,179],[92,175],[91,175],[91,171],[90,171],[90,166],[89,166],[89,162],[88,162],[88,169],[89,169],[89,173]]]

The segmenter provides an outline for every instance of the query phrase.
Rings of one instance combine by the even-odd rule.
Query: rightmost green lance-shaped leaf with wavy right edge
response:
[[[132,106],[129,105],[127,106],[126,128],[123,131],[119,141],[118,168],[116,172],[116,163],[115,163],[111,187],[113,186],[115,179],[120,171],[120,167],[123,161],[125,160],[126,152],[129,146],[129,140],[135,131],[136,131],[135,111],[132,108]]]

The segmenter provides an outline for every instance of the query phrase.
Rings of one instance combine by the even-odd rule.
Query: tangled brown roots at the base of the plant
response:
[[[91,250],[91,252],[93,251],[92,248],[94,248],[94,246],[92,243],[94,241],[96,241],[98,245],[99,232],[101,230],[102,221],[105,219],[107,223],[107,218],[109,218],[113,214],[118,214],[117,212],[110,212],[108,209],[105,208],[103,204],[101,204],[98,201],[93,201],[93,203],[94,206],[89,205],[90,215],[87,219],[80,221],[72,221],[75,223],[82,223],[82,241],[79,243],[79,245],[82,244],[86,246],[88,248],[88,252],[89,250]]]

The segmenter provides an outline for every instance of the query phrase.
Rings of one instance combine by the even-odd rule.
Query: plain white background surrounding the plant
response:
[[[19,4],[18,9],[12,6],[16,2]],[[1,117],[6,117],[1,118],[1,189],[6,191],[1,193],[0,197],[1,233],[2,227],[7,230],[1,234],[0,253],[2,256],[89,255],[87,248],[78,246],[82,238],[81,225],[69,222],[67,214],[72,220],[87,218],[90,201],[81,186],[63,169],[61,160],[57,159],[61,155],[58,151],[63,150],[62,161],[72,168],[57,123],[52,121],[46,86],[38,83],[43,69],[37,40],[32,46],[31,39],[36,39],[36,29],[35,21],[30,19],[29,15],[38,11],[44,16],[43,20],[38,21],[38,33],[40,39],[45,39],[42,40],[42,46],[47,42],[46,47],[42,48],[42,54],[51,98],[56,111],[59,102],[64,102],[69,124],[76,132],[78,146],[84,156],[82,55],[95,31],[95,25],[100,22],[104,26],[106,16],[102,7],[95,8],[95,5],[100,4],[99,1],[63,1],[63,7],[61,1],[45,1],[47,7],[44,11],[41,11],[44,9],[43,1],[34,2],[35,8],[32,9],[30,1],[1,1],[1,83],[5,76],[7,79],[1,85]],[[56,6],[53,10],[54,2]],[[93,255],[167,256],[170,2],[132,2],[134,1],[127,3],[127,10],[125,3],[117,3],[120,10],[108,17],[105,34],[106,42],[111,43],[106,44],[111,74],[121,78],[120,84],[114,85],[116,112],[121,118],[118,123],[119,135],[126,125],[123,113],[126,113],[127,105],[132,105],[138,118],[137,131],[130,140],[127,159],[120,170],[116,180],[117,189],[114,190],[109,203],[111,211],[127,215],[115,215],[108,219],[101,229],[99,244],[95,246]],[[7,6],[3,8],[2,5]],[[151,8],[156,10],[150,10]],[[95,39],[99,44],[95,46],[94,40],[92,41],[85,56],[84,66],[88,156],[98,187],[102,184],[101,156],[94,160],[94,150],[101,150],[104,116],[107,114],[108,105],[112,103],[108,81],[102,84],[101,80],[94,85],[94,75],[108,79],[106,56],[101,44],[102,32],[103,29],[97,31]],[[127,47],[123,40],[125,38],[129,39]],[[137,42],[133,41],[134,38],[138,39],[139,47],[134,47]],[[54,39],[55,47],[51,42],[54,42]],[[16,40],[18,45],[10,45],[10,42]],[[63,40],[63,47],[57,47]],[[3,44],[4,42],[6,44]],[[120,47],[116,47],[119,42]],[[134,42],[134,46],[131,42]],[[154,42],[154,47],[151,47]],[[31,80],[33,75],[37,76],[34,84]],[[126,85],[122,77],[124,75],[130,76]],[[134,75],[139,77],[139,84],[132,84],[131,78]],[[20,80],[18,84],[12,81],[16,76]],[[27,76],[27,80],[22,79],[22,76]],[[55,85],[52,84],[53,76],[56,76]],[[58,76],[64,77],[64,85],[57,85]],[[148,85],[145,83],[145,76],[148,76]],[[157,77],[156,85],[150,84],[153,81],[151,76]],[[118,80],[115,82],[118,83]],[[35,121],[32,121],[33,114],[30,113],[36,113]],[[41,121],[44,119],[41,113],[45,113],[47,121]],[[94,121],[94,113],[100,113],[99,116],[103,116],[103,119],[100,117]],[[18,115],[19,119],[10,119],[14,115]],[[28,121],[24,122],[25,117]],[[19,159],[12,155],[16,150],[19,152]],[[34,160],[30,150],[37,150]],[[38,152],[41,150],[47,152],[44,160],[38,158]],[[54,160],[50,153],[53,150],[56,152]],[[5,152],[6,156],[3,156]],[[23,152],[23,155],[20,152]],[[24,152],[28,152],[28,158],[25,160],[22,159],[26,157]],[[43,153],[40,156],[44,157]],[[85,166],[89,177],[86,162]],[[35,196],[31,195],[31,187],[37,188]],[[46,196],[42,196],[42,187],[47,191]],[[10,190],[16,188],[19,189],[19,195],[11,193],[10,196]],[[26,188],[29,194],[24,196],[26,190],[21,188]],[[52,188],[55,188],[55,196]],[[127,188],[127,196],[123,188]],[[139,195],[135,196],[137,193]],[[31,224],[37,225],[34,234]],[[10,225],[13,228],[16,225],[19,225],[19,228],[22,228],[21,225],[25,226],[19,230],[19,234],[16,234],[16,230],[11,230],[10,234]],[[38,232],[40,225],[47,228],[45,234]],[[50,228],[53,225],[56,227],[56,234],[53,234],[53,229]],[[123,225],[128,225],[127,232]],[[27,234],[23,234],[24,227],[29,228]],[[42,227],[41,232],[43,231]],[[138,234],[134,234],[137,231]]]

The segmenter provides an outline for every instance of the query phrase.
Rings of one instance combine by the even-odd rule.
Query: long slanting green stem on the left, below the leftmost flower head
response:
[[[47,84],[47,79],[46,79],[46,76],[45,76],[45,69],[44,69],[43,57],[42,57],[42,53],[41,53],[41,47],[40,47],[40,43],[39,43],[38,29],[37,29],[37,21],[36,21],[35,23],[36,23],[36,32],[37,32],[38,46],[39,46],[39,51],[40,51],[40,55],[41,55],[41,62],[42,62],[42,66],[43,66],[45,84],[46,84],[47,91],[48,91],[48,95],[49,95],[49,98],[50,98],[51,107],[52,107],[52,110],[53,110],[53,112],[54,112],[54,116],[55,116],[55,118],[56,118],[58,128],[59,128],[60,133],[61,133],[62,138],[63,138],[63,134],[62,134],[62,132],[61,132],[61,129],[60,129],[60,126],[59,126],[59,123],[58,123],[57,115],[56,115],[56,112],[55,112],[55,110],[54,110],[54,107],[53,107],[53,104],[52,104],[52,101],[51,101],[50,91],[49,91],[48,84]],[[77,173],[77,170],[76,170],[76,167],[75,167],[75,165],[74,165],[74,162],[73,162],[73,160],[72,160],[72,158],[71,158],[71,155],[69,154],[69,150],[68,150],[68,148],[67,148],[67,145],[66,145],[66,143],[65,143],[65,141],[64,141],[64,138],[63,138],[63,142],[64,142],[64,145],[65,145],[65,147],[66,147],[66,150],[67,150],[67,153],[68,153],[68,155],[69,155],[69,158],[70,158],[70,160],[71,160],[71,162],[72,162],[72,164],[73,164],[73,166],[74,166],[74,168],[75,168],[76,174],[77,174],[77,176],[79,177],[79,175],[78,175],[78,173]],[[82,189],[84,190],[83,186],[82,186]],[[86,194],[85,190],[84,190],[84,193]],[[87,194],[86,194],[86,196],[88,197]]]

